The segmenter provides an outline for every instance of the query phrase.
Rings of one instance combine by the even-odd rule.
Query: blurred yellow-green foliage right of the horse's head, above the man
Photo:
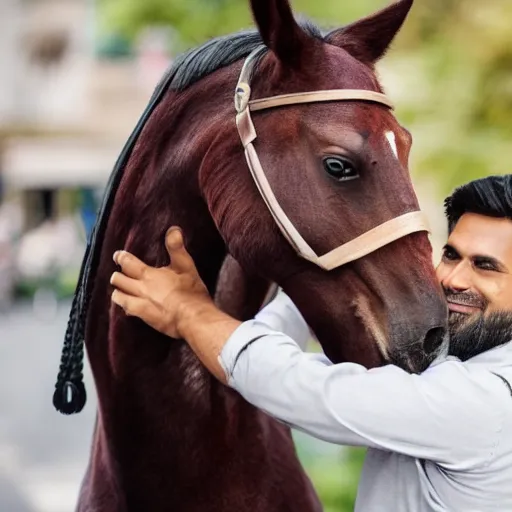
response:
[[[417,2],[383,63],[415,137],[412,169],[440,194],[512,172],[511,16],[509,0]]]

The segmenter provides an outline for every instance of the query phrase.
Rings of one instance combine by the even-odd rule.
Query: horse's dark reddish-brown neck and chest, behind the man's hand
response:
[[[283,501],[316,510],[289,431],[211,377],[183,341],[127,318],[110,304],[114,251],[126,248],[151,265],[166,265],[164,236],[171,225],[184,230],[210,292],[217,288],[226,249],[202,198],[199,170],[218,133],[218,103],[209,102],[209,115],[204,109],[176,108],[175,100],[170,94],[145,126],[103,240],[86,334],[99,418],[80,502],[83,510],[106,496],[112,503],[101,510],[120,510],[118,498],[137,510],[224,510],[227,500],[247,503],[240,510],[256,510],[252,500],[241,499],[256,486],[278,489],[275,496],[264,493],[257,510],[280,510]],[[254,287],[246,281],[247,293],[240,294],[230,276],[238,273],[240,283],[241,269],[233,260],[224,269],[221,301],[231,299],[235,313]],[[247,308],[238,311],[251,315]],[[277,465],[268,453],[275,454]],[[221,482],[213,494],[190,496],[190,488],[200,488],[212,474]],[[186,505],[196,498],[194,506]]]

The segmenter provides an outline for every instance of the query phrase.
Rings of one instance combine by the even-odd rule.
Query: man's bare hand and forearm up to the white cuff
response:
[[[168,267],[149,267],[126,251],[114,254],[121,272],[110,280],[116,288],[112,302],[157,331],[187,341],[206,368],[226,383],[219,355],[241,322],[213,303],[179,228],[167,232],[165,245],[171,257]]]

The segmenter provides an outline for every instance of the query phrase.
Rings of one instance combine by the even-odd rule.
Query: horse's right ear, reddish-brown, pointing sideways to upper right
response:
[[[399,0],[372,16],[331,32],[326,41],[373,66],[388,50],[414,0]]]

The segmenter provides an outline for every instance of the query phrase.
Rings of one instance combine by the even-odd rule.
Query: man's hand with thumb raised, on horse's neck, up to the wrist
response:
[[[169,229],[165,245],[171,258],[167,267],[150,267],[126,251],[114,254],[121,272],[114,272],[110,280],[116,288],[112,301],[127,315],[140,318],[157,331],[183,338],[182,320],[213,302],[185,249],[179,228]]]

